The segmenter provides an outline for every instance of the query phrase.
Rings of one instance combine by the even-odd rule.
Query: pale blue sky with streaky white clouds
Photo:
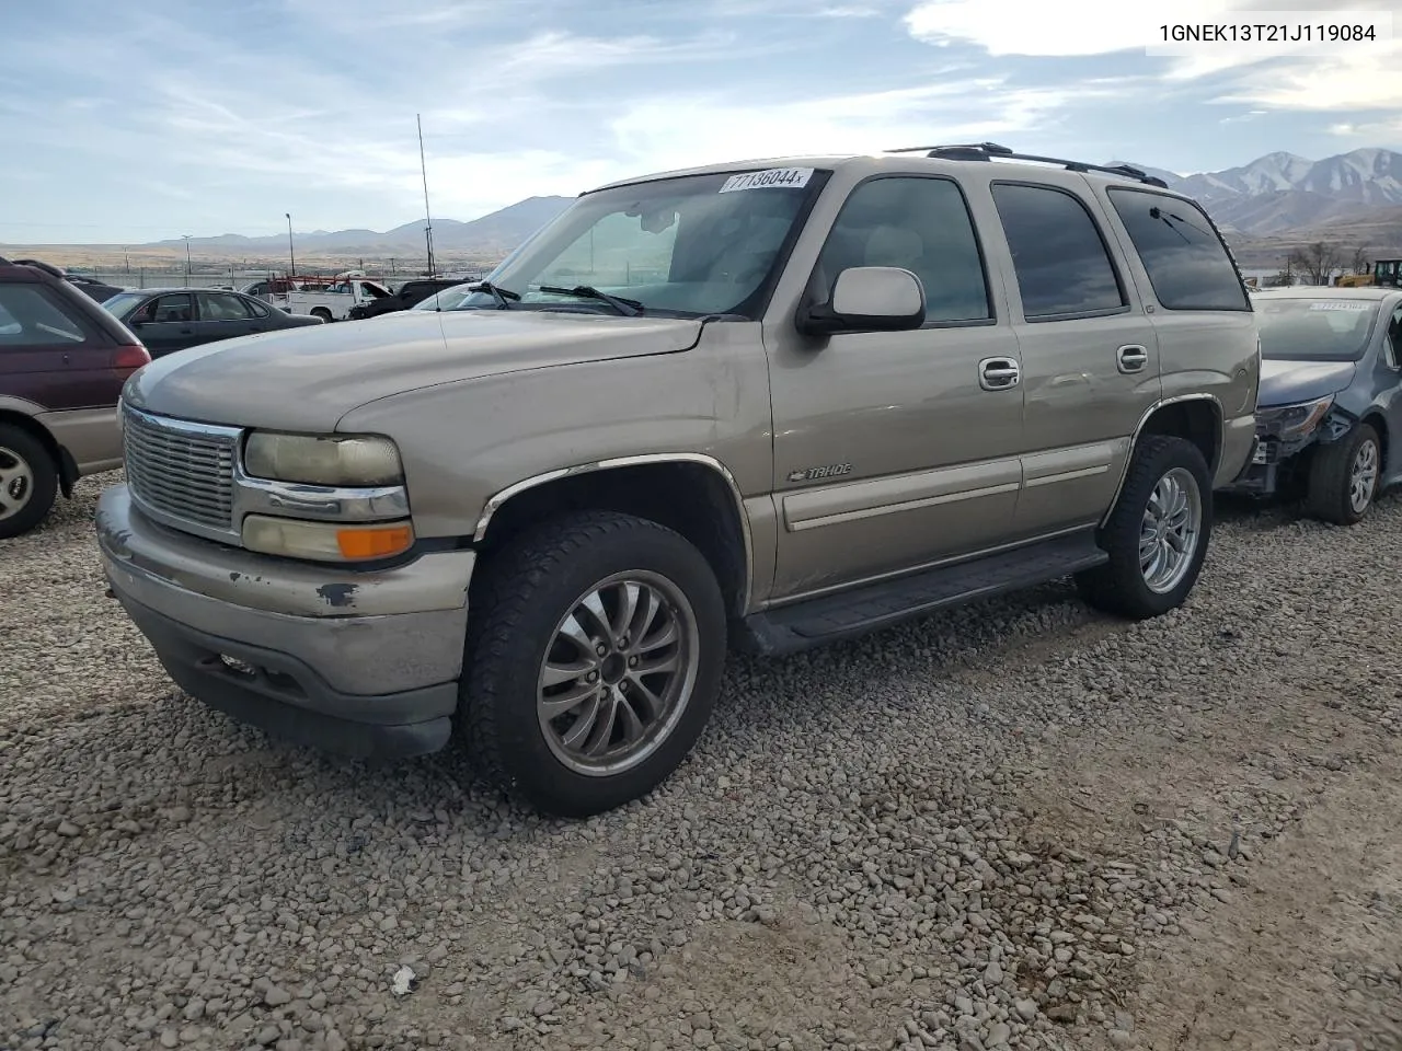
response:
[[[421,220],[416,114],[433,216],[458,220],[785,153],[993,140],[1187,174],[1276,150],[1402,150],[1402,13],[1396,38],[1326,53],[1152,46],[1165,21],[1392,0],[0,7],[10,244],[278,234],[289,212],[297,231]]]

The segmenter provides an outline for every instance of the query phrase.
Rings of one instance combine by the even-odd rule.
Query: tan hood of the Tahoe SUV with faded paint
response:
[[[397,311],[264,332],[156,359],[135,408],[200,423],[329,433],[376,398],[484,376],[695,346],[698,320],[536,310]]]

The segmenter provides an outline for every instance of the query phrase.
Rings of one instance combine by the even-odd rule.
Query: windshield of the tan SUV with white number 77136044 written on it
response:
[[[512,310],[620,312],[562,291],[589,287],[641,304],[645,314],[756,320],[826,175],[718,172],[589,193],[488,280]],[[489,291],[477,291],[458,308],[496,305]]]

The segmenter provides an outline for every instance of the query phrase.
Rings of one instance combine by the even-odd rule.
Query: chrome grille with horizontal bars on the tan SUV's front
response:
[[[231,531],[237,436],[234,427],[206,427],[125,409],[122,447],[132,495],[171,526]]]

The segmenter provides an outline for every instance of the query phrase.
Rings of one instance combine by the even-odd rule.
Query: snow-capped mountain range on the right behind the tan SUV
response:
[[[1353,150],[1322,161],[1267,153],[1239,168],[1186,177],[1129,164],[1200,200],[1223,228],[1256,237],[1366,221],[1370,212],[1402,205],[1402,153],[1392,150]]]

